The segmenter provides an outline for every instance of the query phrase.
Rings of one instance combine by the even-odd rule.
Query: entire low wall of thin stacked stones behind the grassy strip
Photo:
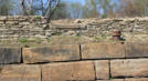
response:
[[[47,39],[52,36],[110,36],[118,29],[124,33],[148,33],[148,18],[53,20],[39,16],[0,17],[0,40],[20,38]]]

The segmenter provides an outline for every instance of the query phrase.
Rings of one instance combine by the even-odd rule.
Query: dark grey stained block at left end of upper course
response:
[[[20,63],[21,48],[0,48],[0,63]]]

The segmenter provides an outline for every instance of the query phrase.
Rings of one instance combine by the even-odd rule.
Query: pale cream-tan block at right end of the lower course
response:
[[[110,61],[110,72],[115,77],[147,77],[148,59],[127,59]]]

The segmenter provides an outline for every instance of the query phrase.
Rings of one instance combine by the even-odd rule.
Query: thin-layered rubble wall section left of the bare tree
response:
[[[0,17],[0,39],[46,38],[46,19],[39,16]]]

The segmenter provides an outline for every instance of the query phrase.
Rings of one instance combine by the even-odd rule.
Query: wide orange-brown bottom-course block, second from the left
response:
[[[95,80],[93,62],[53,63],[42,67],[42,81]]]

